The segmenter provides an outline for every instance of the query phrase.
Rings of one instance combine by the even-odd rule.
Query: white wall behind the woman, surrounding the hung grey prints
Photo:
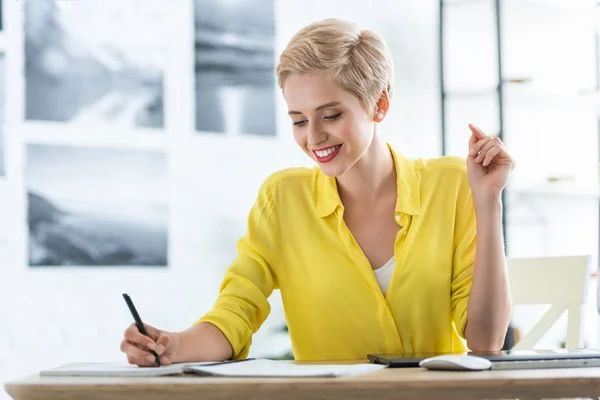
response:
[[[272,171],[307,164],[291,135],[278,93],[278,138],[194,134],[193,21],[191,2],[169,4],[164,136],[115,130],[69,130],[59,124],[23,123],[23,56],[20,2],[4,2],[8,101],[8,178],[0,180],[0,382],[74,361],[124,361],[119,352],[131,316],[121,298],[128,292],[147,323],[182,330],[206,312],[221,276],[234,257],[237,238],[258,186]],[[277,2],[277,47],[317,19],[351,19],[375,28],[396,55],[397,91],[385,124],[388,139],[407,155],[439,154],[436,11],[434,3],[386,1]],[[24,145],[165,149],[170,156],[170,266],[134,268],[27,268]],[[215,174],[215,171],[218,173]],[[253,355],[289,349],[278,293],[273,312],[255,336]],[[1,397],[1,395],[0,395]]]

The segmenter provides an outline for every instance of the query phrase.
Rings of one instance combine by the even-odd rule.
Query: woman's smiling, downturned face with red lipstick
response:
[[[283,87],[294,139],[328,176],[348,171],[366,153],[374,114],[359,99],[319,73],[291,74]]]

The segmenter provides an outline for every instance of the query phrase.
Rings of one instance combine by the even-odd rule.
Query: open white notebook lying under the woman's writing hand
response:
[[[40,372],[41,376],[122,376],[152,377],[179,374],[227,377],[338,377],[375,372],[379,364],[294,364],[289,361],[248,359],[225,362],[171,364],[164,367],[138,367],[121,363],[71,364]]]

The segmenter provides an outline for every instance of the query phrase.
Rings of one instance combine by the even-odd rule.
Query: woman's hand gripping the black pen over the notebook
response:
[[[147,324],[144,326],[150,337],[142,335],[135,324],[125,330],[121,351],[127,355],[127,361],[140,367],[154,367],[155,357],[149,351],[152,350],[159,355],[161,365],[172,364],[179,350],[177,333],[161,331]]]

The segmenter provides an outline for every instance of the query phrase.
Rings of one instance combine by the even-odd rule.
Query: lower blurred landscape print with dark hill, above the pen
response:
[[[165,267],[166,154],[27,145],[29,264]]]

